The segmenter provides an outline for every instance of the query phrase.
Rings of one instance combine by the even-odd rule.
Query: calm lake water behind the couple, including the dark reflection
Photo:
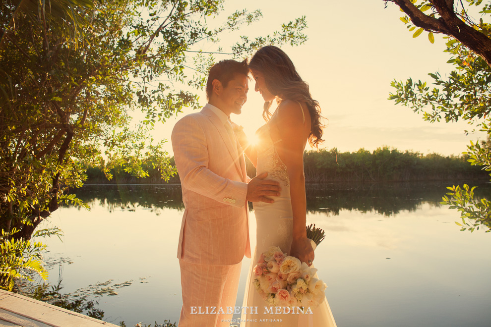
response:
[[[458,213],[438,204],[449,184],[308,185],[307,223],[326,231],[314,264],[339,327],[491,326],[491,233],[459,230]],[[64,233],[43,240],[50,282],[89,294],[116,325],[177,322],[180,186],[86,185],[76,194],[90,212],[61,208],[41,226]],[[105,294],[94,294],[101,283]]]

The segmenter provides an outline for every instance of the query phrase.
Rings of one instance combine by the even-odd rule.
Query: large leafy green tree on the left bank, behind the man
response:
[[[239,10],[208,27],[223,8],[224,0],[2,1],[0,225],[29,239],[60,203],[83,206],[66,190],[83,184],[89,165],[144,177],[150,160],[169,178],[164,141],[148,131],[198,108],[195,91],[217,56],[306,40],[300,17],[270,35],[244,36],[225,54],[221,33],[261,12]],[[210,44],[216,51],[200,51]],[[145,118],[133,126],[136,111]]]

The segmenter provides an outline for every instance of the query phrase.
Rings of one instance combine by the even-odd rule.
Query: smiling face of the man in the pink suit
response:
[[[218,94],[220,102],[223,103],[223,109],[226,109],[229,114],[240,114],[242,106],[247,101],[247,91],[249,91],[247,76],[235,74],[234,78]]]

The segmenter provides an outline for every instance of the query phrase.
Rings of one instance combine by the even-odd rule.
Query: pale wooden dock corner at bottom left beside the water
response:
[[[0,315],[0,321],[22,327],[117,327],[95,318],[4,290],[0,290],[0,309],[2,309],[0,314],[3,315]]]

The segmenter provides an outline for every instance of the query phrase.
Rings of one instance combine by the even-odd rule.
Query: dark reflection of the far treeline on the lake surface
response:
[[[491,184],[471,184],[478,186],[477,196],[491,195]],[[401,211],[414,212],[424,202],[440,206],[441,197],[448,191],[446,187],[449,185],[452,183],[311,183],[306,187],[307,212],[337,216],[340,210],[356,210],[393,216]],[[137,207],[184,210],[179,184],[88,184],[73,193],[85,203],[107,207],[110,212],[134,210]],[[252,210],[251,205],[249,209]]]

